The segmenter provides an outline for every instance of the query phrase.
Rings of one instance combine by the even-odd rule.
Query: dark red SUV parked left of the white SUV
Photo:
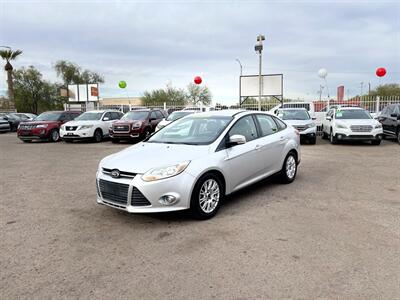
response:
[[[71,121],[81,113],[77,111],[47,111],[41,113],[34,121],[21,123],[18,127],[18,138],[24,142],[32,140],[60,140],[60,126]]]

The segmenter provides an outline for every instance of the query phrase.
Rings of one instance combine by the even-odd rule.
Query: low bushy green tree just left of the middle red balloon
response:
[[[174,88],[167,85],[164,89],[156,89],[145,91],[142,97],[145,105],[163,105],[168,103],[175,106],[183,106],[186,104],[186,93],[182,89]]]

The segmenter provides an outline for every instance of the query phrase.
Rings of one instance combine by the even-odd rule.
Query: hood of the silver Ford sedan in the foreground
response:
[[[150,169],[172,166],[208,155],[209,146],[138,143],[109,155],[100,162],[101,168],[143,174]]]

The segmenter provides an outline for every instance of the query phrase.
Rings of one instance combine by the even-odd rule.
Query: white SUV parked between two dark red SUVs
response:
[[[66,142],[93,139],[101,142],[109,135],[112,123],[119,120],[123,113],[116,110],[93,110],[81,114],[75,120],[65,123],[60,128],[60,137]]]

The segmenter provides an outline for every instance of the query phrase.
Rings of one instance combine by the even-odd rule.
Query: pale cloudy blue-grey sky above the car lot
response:
[[[0,45],[22,49],[15,67],[34,65],[56,81],[67,59],[105,76],[101,96],[140,96],[201,75],[214,100],[234,102],[239,58],[256,74],[256,36],[266,36],[264,73],[284,74],[287,97],[317,97],[319,68],[331,94],[400,81],[400,1],[5,1]],[[128,88],[121,92],[118,81]],[[6,90],[1,72],[0,90]]]

